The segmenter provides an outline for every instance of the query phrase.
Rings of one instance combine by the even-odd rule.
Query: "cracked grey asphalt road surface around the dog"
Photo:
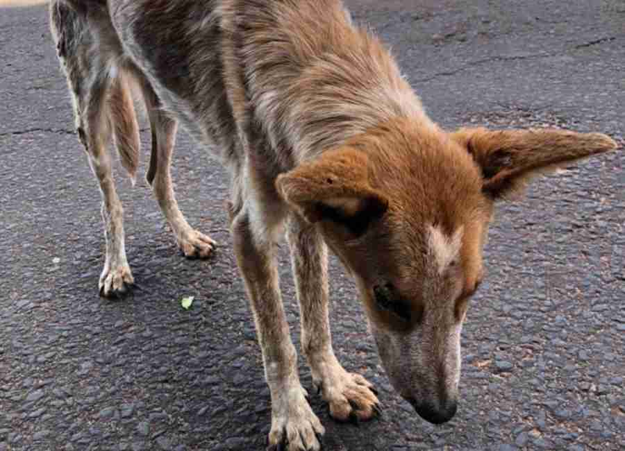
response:
[[[624,142],[622,0],[350,3],[445,126]],[[102,300],[99,192],[72,128],[45,8],[0,8],[0,451],[263,449],[269,392],[222,210],[226,174],[181,134],[181,208],[222,244],[200,262],[178,255],[147,185],[119,171],[142,289]],[[390,389],[333,260],[335,350],[378,386],[385,419],[334,423],[313,396],[325,449],[624,449],[624,164],[623,152],[597,158],[499,207],[462,336],[459,411],[440,427]],[[280,267],[297,337],[284,246]],[[195,296],[189,311],[183,296]]]

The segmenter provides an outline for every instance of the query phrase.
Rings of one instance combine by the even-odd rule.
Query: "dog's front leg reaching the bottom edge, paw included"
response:
[[[272,395],[272,429],[269,449],[303,451],[321,449],[324,427],[299,383],[297,352],[290,338],[274,262],[271,239],[254,233],[249,214],[240,212],[232,223],[239,268],[251,300],[256,332],[263,350],[265,378]],[[281,448],[284,444],[286,448]]]

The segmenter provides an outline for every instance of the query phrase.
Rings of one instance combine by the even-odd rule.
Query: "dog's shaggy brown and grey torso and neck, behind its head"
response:
[[[123,42],[99,42],[119,51],[111,67],[140,71],[224,162],[272,157],[271,180],[397,115],[431,124],[385,47],[338,0],[63,1],[87,11],[97,39]]]

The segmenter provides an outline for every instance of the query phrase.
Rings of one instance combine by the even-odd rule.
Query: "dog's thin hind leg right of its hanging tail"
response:
[[[162,110],[158,96],[147,80],[142,80],[141,84],[152,130],[152,153],[146,174],[147,182],[152,186],[160,210],[171,226],[181,252],[189,258],[206,258],[213,253],[217,243],[189,225],[174,196],[169,167],[178,124]]]

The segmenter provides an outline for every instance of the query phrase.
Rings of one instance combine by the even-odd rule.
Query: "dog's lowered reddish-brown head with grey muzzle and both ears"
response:
[[[494,203],[533,174],[615,148],[564,130],[390,124],[278,177],[356,278],[385,371],[420,416],[456,413],[460,330]]]

